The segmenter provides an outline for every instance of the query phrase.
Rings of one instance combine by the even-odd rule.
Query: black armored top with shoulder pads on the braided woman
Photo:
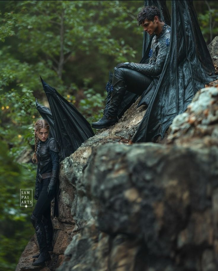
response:
[[[54,138],[48,138],[45,142],[39,141],[36,156],[40,174],[58,170],[59,167],[59,146]]]

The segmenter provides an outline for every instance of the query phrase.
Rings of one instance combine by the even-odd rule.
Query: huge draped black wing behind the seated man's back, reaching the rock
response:
[[[133,142],[163,138],[174,117],[187,109],[195,93],[217,78],[192,1],[171,3],[171,40],[166,62]]]

